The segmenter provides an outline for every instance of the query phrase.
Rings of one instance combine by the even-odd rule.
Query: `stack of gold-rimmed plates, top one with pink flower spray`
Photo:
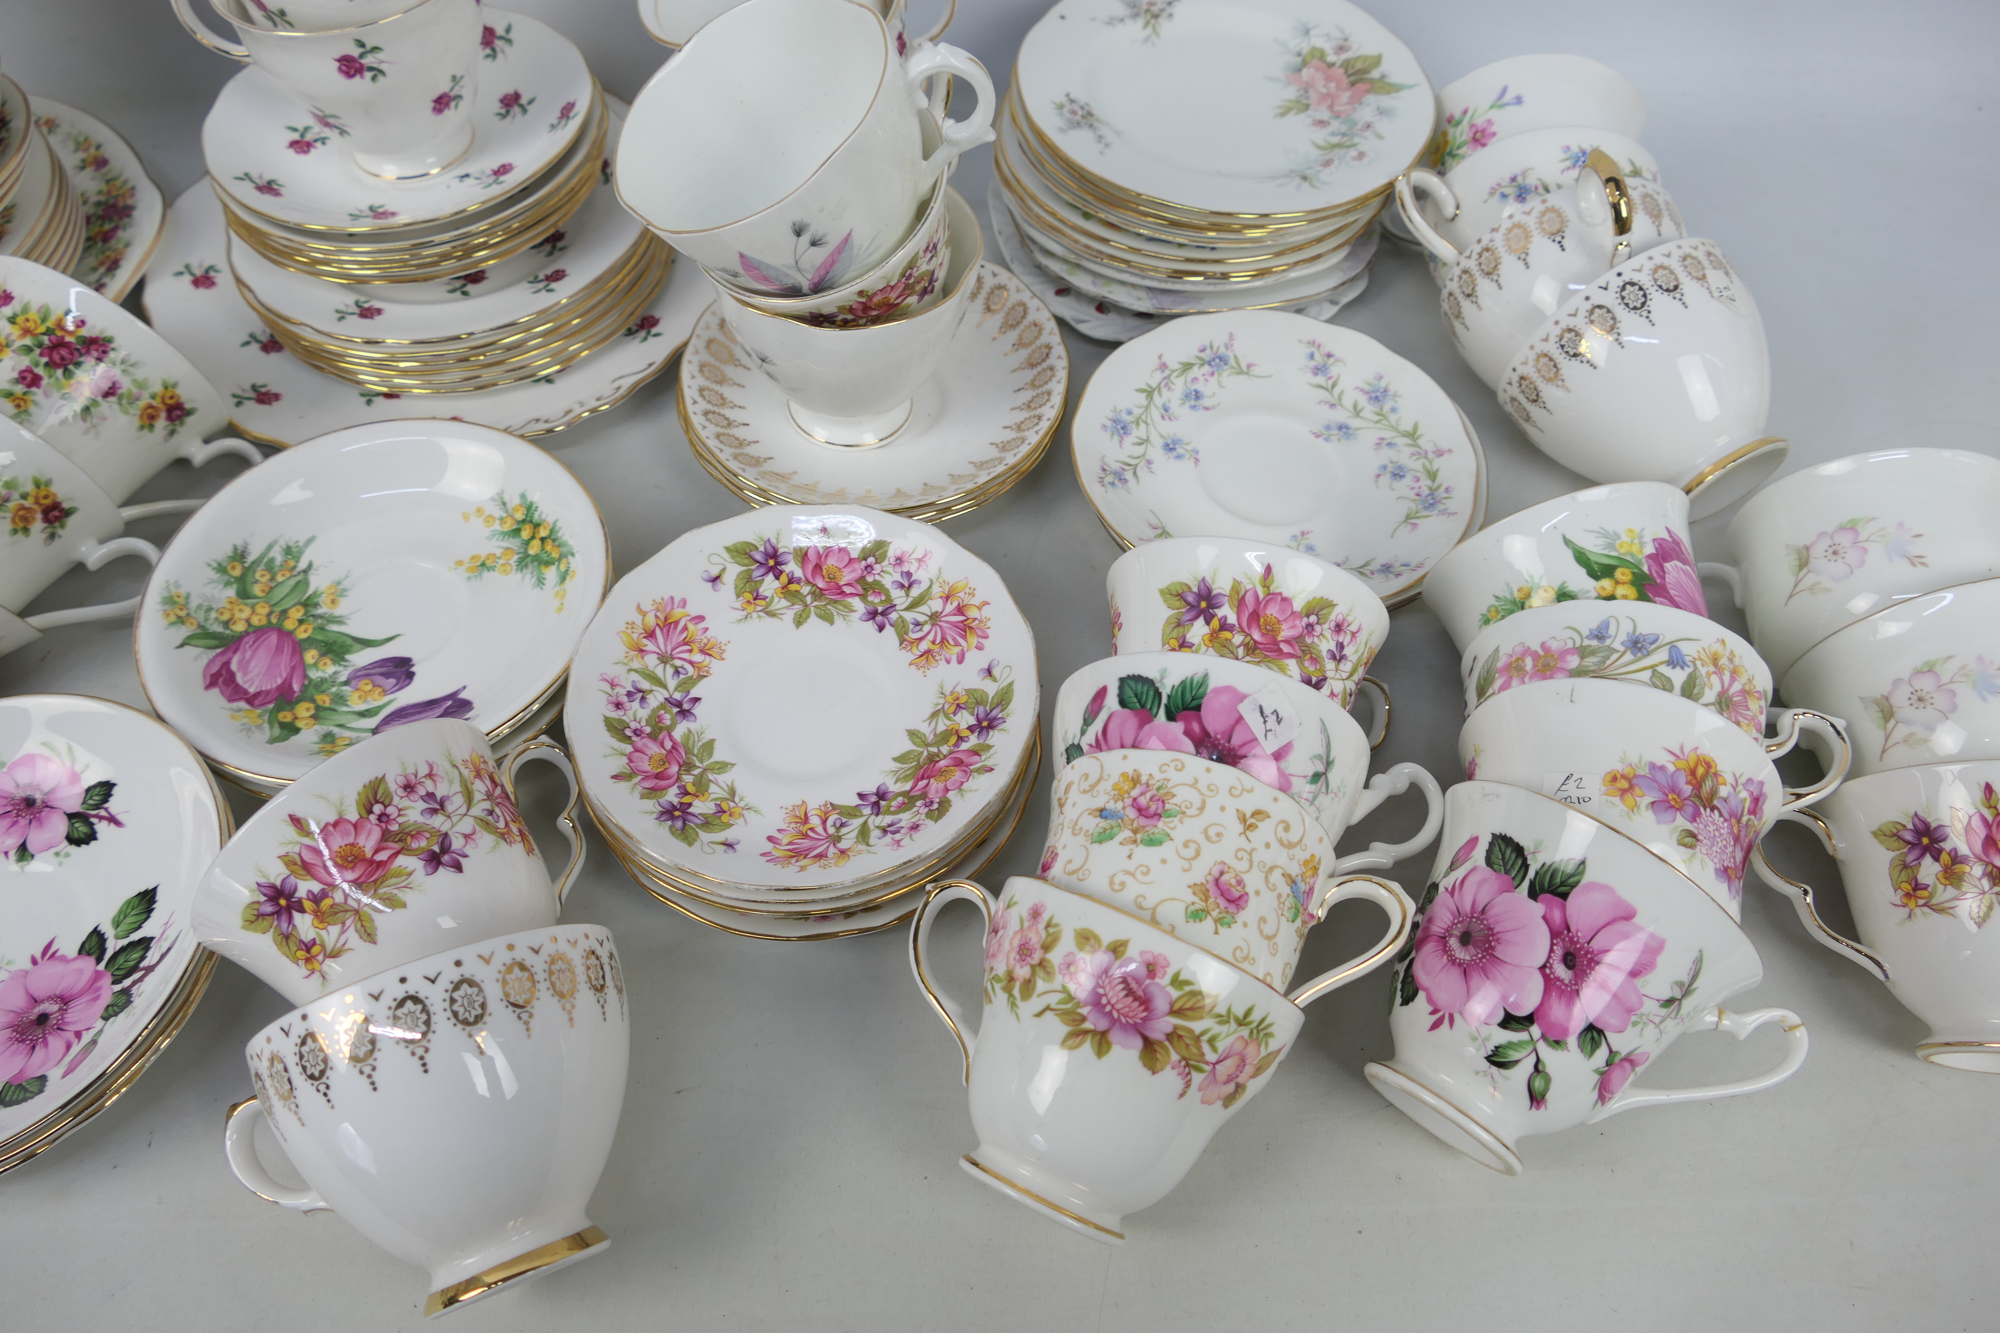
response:
[[[1324,306],[1364,282],[1434,116],[1416,58],[1342,0],[1062,0],[996,118],[994,222],[1126,312]]]

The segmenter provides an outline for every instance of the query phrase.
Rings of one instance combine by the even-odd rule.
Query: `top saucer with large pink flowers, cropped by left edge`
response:
[[[104,1109],[214,957],[194,889],[230,835],[200,757],[80,695],[0,699],[0,1171]]]

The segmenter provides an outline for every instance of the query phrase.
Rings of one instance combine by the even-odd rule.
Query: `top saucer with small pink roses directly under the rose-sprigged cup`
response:
[[[216,96],[202,122],[208,178],[260,218],[328,232],[386,232],[488,208],[536,180],[584,130],[596,96],[582,52],[548,24],[486,10],[488,28],[512,44],[494,44],[480,66],[480,100],[522,94],[528,116],[482,112],[478,138],[452,168],[424,180],[386,182],[340,150],[340,140],[300,138],[288,126],[306,116],[264,70],[250,66]],[[314,144],[300,154],[292,144]]]

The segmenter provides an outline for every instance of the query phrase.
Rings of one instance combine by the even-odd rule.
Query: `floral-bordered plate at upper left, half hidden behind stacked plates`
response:
[[[166,196],[116,130],[54,98],[34,100],[34,124],[84,200],[84,258],[72,276],[122,302],[146,272],[166,222]]]

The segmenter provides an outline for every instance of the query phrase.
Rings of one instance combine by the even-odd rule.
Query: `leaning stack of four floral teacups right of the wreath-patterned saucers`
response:
[[[1116,1243],[1122,1215],[1172,1189],[1264,1087],[1300,1005],[1400,947],[1408,897],[1360,871],[1428,847],[1442,795],[1414,763],[1364,787],[1368,739],[1346,703],[1388,612],[1360,580],[1296,552],[1186,538],[1120,558],[1110,590],[1126,608],[1164,602],[1184,630],[1158,636],[1134,614],[1114,658],[1070,675],[1042,877],[1010,879],[998,907],[976,885],[940,885],[912,959],[966,1049],[980,1137],[966,1171]],[[1348,823],[1410,785],[1428,805],[1414,837],[1334,853]],[[1308,927],[1350,897],[1382,905],[1390,929],[1292,985]],[[976,1035],[924,961],[936,909],[958,899],[988,917]],[[1050,1053],[1066,1075],[1036,1073]]]

